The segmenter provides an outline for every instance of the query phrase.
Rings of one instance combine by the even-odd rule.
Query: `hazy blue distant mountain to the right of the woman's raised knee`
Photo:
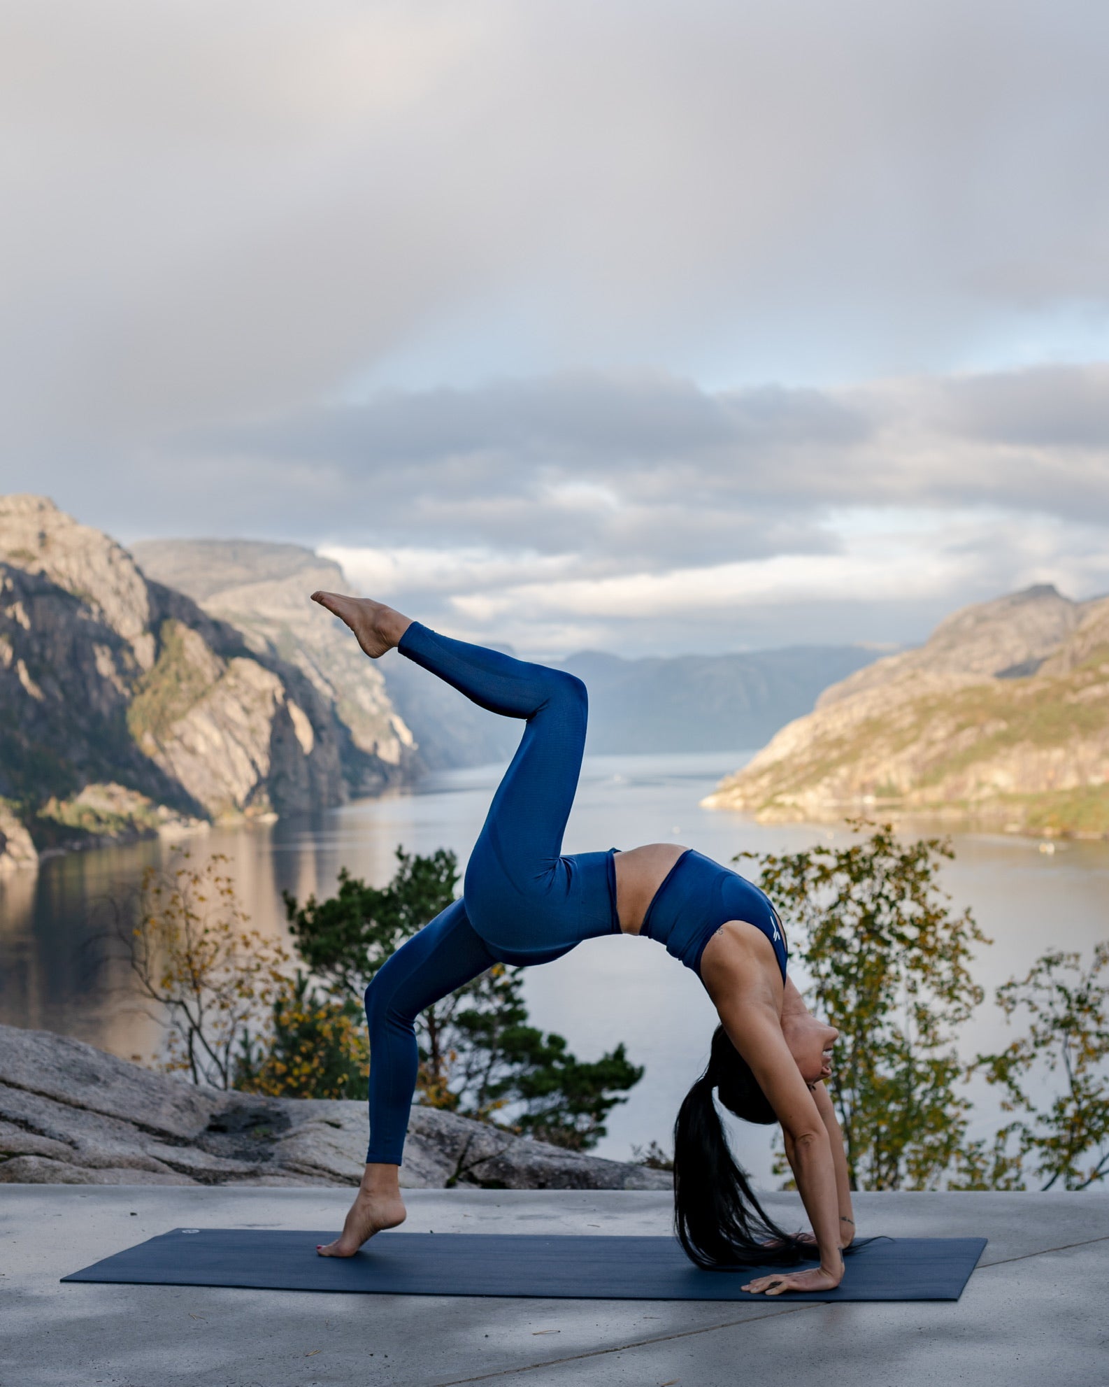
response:
[[[639,660],[582,651],[563,664],[589,687],[588,750],[618,755],[761,746],[873,659],[833,645]]]

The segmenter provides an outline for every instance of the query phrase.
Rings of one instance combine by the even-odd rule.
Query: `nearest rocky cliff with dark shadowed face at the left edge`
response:
[[[108,535],[0,498],[0,863],[347,795],[312,680]]]

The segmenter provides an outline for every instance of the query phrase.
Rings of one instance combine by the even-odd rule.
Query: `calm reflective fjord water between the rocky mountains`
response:
[[[843,843],[844,828],[756,824],[704,810],[699,800],[750,753],[586,757],[566,834],[566,852],[670,839],[728,863],[739,852]],[[311,818],[215,829],[186,846],[194,859],[223,853],[252,924],[286,932],[281,890],[326,896],[340,867],[384,884],[394,850],[451,847],[460,867],[481,828],[502,767],[439,773],[414,792],[360,800]],[[1051,846],[1051,852],[1041,847]],[[944,884],[970,906],[994,943],[976,975],[990,997],[963,1032],[968,1056],[1012,1036],[993,989],[1047,949],[1087,958],[1109,936],[1109,843],[1041,845],[1001,835],[959,835]],[[78,1036],[123,1057],[148,1058],[158,1026],[140,1008],[126,967],[103,943],[105,902],[133,888],[146,865],[171,857],[150,842],[50,859],[37,874],[0,879],[0,1021]],[[743,864],[737,864],[743,871]],[[801,982],[803,979],[798,979]],[[704,1064],[715,1013],[693,974],[650,940],[589,940],[557,963],[527,972],[532,1019],[564,1035],[581,1058],[624,1042],[646,1076],[614,1110],[597,1153],[627,1160],[632,1146],[668,1146],[678,1103]],[[997,1117],[990,1090],[975,1089],[976,1126]],[[769,1132],[742,1126],[737,1153],[769,1180]]]

